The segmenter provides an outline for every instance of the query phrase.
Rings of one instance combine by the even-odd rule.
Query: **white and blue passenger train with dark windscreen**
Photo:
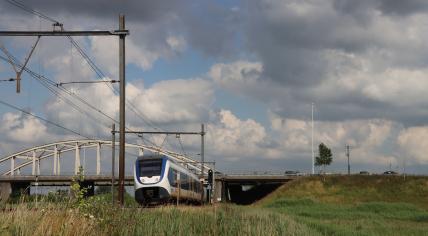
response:
[[[141,205],[176,202],[200,204],[198,177],[164,155],[139,156],[134,168],[135,200]]]

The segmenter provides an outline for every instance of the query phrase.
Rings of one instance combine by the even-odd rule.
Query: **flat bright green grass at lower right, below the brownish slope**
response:
[[[413,204],[331,204],[278,199],[265,206],[325,235],[427,235],[428,212]]]

